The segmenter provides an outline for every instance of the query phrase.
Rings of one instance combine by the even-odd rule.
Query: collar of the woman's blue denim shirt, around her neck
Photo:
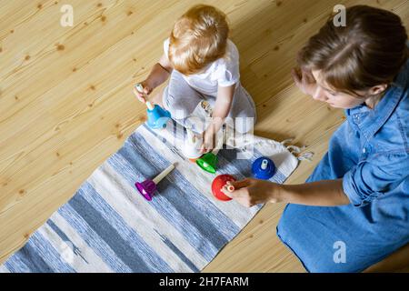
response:
[[[374,109],[363,104],[345,110],[350,124],[359,130],[366,140],[372,138],[394,113],[394,109],[403,99],[404,94],[407,94],[408,83],[409,61],[406,62],[394,83]]]

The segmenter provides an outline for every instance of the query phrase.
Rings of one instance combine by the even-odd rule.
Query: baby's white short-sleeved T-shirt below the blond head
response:
[[[164,42],[164,52],[169,58],[169,38]],[[205,71],[195,75],[183,75],[187,84],[195,90],[206,94],[216,95],[218,86],[240,85],[239,53],[234,43],[228,39],[226,55],[207,65]]]

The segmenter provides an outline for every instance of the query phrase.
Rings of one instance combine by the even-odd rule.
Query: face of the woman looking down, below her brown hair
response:
[[[323,80],[320,71],[312,71],[314,76],[316,89],[313,98],[318,101],[323,101],[335,108],[354,108],[365,102],[365,98],[357,95],[349,95],[344,92],[337,92],[326,84]],[[357,92],[359,95],[368,95],[368,92]]]

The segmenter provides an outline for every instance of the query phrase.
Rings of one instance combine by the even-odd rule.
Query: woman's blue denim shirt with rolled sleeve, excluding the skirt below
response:
[[[344,177],[344,193],[354,206],[387,196],[409,203],[408,85],[409,61],[374,109],[347,109],[309,181]]]

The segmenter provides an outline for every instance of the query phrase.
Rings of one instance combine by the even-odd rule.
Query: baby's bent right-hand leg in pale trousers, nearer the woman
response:
[[[255,121],[256,112],[253,98],[240,85],[234,92],[233,105],[226,118],[226,125],[233,124],[235,131],[244,134],[253,130]]]

